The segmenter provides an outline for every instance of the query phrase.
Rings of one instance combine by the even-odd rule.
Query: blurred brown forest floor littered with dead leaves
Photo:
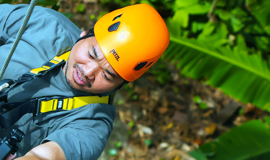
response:
[[[84,4],[80,13],[79,3]],[[74,14],[70,19],[87,30],[90,17],[97,17],[104,9],[96,0],[64,0],[58,11]],[[169,62],[165,65],[169,79],[165,84],[147,72],[115,94],[117,115],[100,160],[193,159],[188,153],[203,143],[245,121],[268,115],[219,88],[182,77]]]

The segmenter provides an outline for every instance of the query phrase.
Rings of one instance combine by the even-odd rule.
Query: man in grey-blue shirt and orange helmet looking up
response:
[[[0,64],[26,9],[27,5],[0,5]],[[35,6],[3,78],[16,79],[53,56],[71,51],[63,65],[11,88],[7,101],[106,96],[142,75],[168,42],[164,21],[148,4],[112,11],[82,32],[60,13]],[[16,159],[97,159],[112,131],[114,117],[114,106],[103,103],[26,113],[12,125],[25,133]],[[7,159],[12,158],[9,155]]]

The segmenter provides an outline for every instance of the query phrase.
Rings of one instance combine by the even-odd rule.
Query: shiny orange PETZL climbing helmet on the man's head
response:
[[[167,26],[148,4],[126,6],[103,15],[94,35],[112,68],[125,80],[142,75],[169,43]]]

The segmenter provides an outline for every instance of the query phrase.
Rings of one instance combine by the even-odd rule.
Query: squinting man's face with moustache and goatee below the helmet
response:
[[[63,72],[70,87],[91,93],[111,91],[124,81],[108,63],[94,36],[72,47]]]

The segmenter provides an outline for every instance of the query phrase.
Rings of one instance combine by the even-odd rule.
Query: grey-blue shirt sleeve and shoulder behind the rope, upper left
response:
[[[22,24],[27,4],[0,4],[0,66]],[[18,78],[72,48],[80,29],[61,13],[35,6],[3,78]]]

